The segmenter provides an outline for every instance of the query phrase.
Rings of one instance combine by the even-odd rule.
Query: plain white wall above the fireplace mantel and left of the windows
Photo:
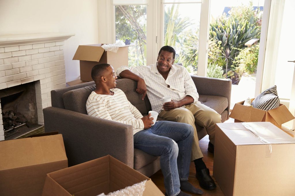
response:
[[[66,82],[80,76],[78,45],[98,43],[98,0],[0,0],[0,35],[67,32]]]

